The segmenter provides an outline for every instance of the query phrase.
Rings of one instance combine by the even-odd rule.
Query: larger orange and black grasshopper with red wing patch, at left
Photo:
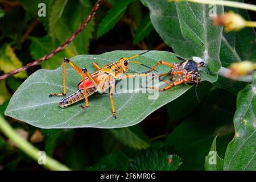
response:
[[[148,52],[148,51],[146,51]],[[115,89],[115,80],[117,78],[131,78],[135,76],[154,76],[152,74],[135,74],[128,75],[127,70],[129,68],[129,63],[141,64],[145,67],[146,65],[139,63],[137,61],[130,61],[134,57],[141,56],[146,53],[143,52],[141,54],[129,57],[129,58],[121,58],[118,61],[115,61],[112,64],[105,65],[104,67],[100,67],[95,62],[93,62],[93,66],[96,68],[96,71],[93,73],[89,73],[86,68],[80,69],[73,62],[67,58],[63,60],[63,93],[51,93],[49,97],[52,96],[65,96],[66,95],[66,82],[65,82],[65,65],[68,63],[71,65],[73,69],[82,77],[82,80],[77,84],[79,88],[75,93],[70,96],[63,98],[59,102],[59,106],[65,108],[69,105],[72,105],[80,100],[85,99],[85,106],[80,105],[81,109],[87,109],[89,106],[88,96],[92,95],[95,92],[104,93],[105,90],[110,88],[109,96],[112,105],[112,113],[113,118],[116,119],[115,115],[115,107],[113,102],[113,93]],[[147,67],[150,68],[150,67]],[[123,76],[125,74],[125,76]]]

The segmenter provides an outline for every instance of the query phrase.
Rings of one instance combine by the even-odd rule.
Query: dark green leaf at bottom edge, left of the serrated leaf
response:
[[[89,171],[125,171],[129,168],[130,159],[121,152],[105,155],[94,164],[93,167],[86,168]]]

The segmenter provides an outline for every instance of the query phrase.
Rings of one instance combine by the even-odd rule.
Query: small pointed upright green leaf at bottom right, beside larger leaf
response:
[[[217,154],[216,139],[217,137],[215,137],[212,142],[212,147],[210,147],[209,154],[205,156],[205,171],[223,171],[224,160],[221,159]]]

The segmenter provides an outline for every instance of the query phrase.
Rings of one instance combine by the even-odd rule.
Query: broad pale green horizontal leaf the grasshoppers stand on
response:
[[[119,60],[120,57],[130,57],[141,52],[113,51],[102,55],[80,55],[73,57],[72,61],[81,68],[86,67],[92,73],[94,71],[93,61],[97,61],[102,67]],[[134,60],[141,61],[150,67],[157,60],[168,60],[170,63],[179,61],[174,53],[164,51],[151,51]],[[147,70],[148,68],[142,65],[131,63],[129,73],[141,73]],[[160,65],[158,70],[160,73],[166,73],[170,71],[170,68]],[[204,71],[201,71],[201,73],[202,80],[216,81],[215,77],[207,75]],[[180,85],[167,92],[160,93],[156,92],[156,90],[155,92],[148,90],[148,93],[126,92],[114,94],[113,100],[117,110],[117,120],[114,120],[112,118],[109,94],[93,94],[89,97],[90,106],[87,110],[81,110],[79,107],[84,102],[61,109],[59,107],[61,98],[49,98],[48,95],[52,92],[63,91],[62,75],[61,67],[52,71],[45,69],[36,71],[16,90],[5,114],[42,128],[127,127],[141,122],[154,110],[175,100],[175,98],[191,88],[191,85]],[[67,95],[69,95],[77,90],[76,85],[81,78],[69,65],[67,65],[66,75]],[[133,89],[130,88],[130,90],[132,91]],[[137,91],[139,92],[139,89]],[[152,98],[156,96],[155,98],[157,99],[150,100],[148,99],[149,96]]]

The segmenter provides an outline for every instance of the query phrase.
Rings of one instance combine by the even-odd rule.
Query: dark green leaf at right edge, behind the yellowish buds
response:
[[[237,1],[243,2],[242,0]],[[250,20],[246,10],[225,7],[226,12],[230,10],[242,15],[246,20]],[[220,51],[222,67],[227,68],[230,64],[238,61],[256,61],[256,53],[254,51],[256,49],[255,38],[254,28],[243,28],[241,31],[229,32],[228,34],[223,32]],[[214,85],[237,94],[241,89],[245,88],[246,83],[219,76]]]

